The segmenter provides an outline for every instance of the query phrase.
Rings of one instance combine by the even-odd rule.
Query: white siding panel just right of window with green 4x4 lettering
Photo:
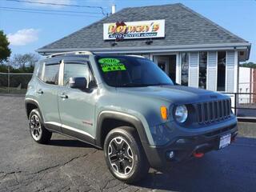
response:
[[[190,53],[189,86],[198,87],[198,52]]]

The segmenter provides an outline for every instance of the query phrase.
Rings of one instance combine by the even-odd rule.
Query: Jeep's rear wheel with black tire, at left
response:
[[[30,135],[35,142],[46,144],[50,142],[52,133],[46,130],[42,122],[38,109],[31,110],[29,116]]]

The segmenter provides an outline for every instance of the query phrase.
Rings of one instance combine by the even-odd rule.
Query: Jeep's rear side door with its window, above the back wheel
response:
[[[36,90],[38,105],[47,128],[61,131],[58,114],[59,69],[62,61],[50,59],[42,66]]]

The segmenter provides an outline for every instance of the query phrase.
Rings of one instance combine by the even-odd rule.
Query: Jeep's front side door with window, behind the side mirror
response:
[[[63,87],[58,93],[62,132],[87,142],[94,142],[94,110],[97,90],[79,90],[69,86],[70,78],[85,77],[93,85],[89,62],[64,60]]]

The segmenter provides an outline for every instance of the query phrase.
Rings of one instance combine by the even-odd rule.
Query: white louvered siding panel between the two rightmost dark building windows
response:
[[[207,90],[217,90],[217,52],[208,52],[207,62]]]

